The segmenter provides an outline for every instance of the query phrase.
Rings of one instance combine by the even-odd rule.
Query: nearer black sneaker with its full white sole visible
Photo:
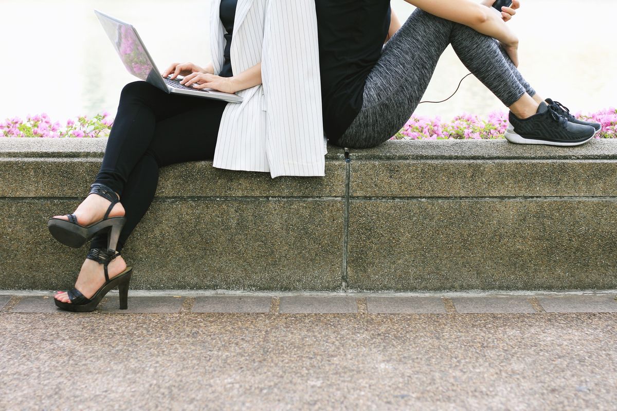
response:
[[[521,120],[510,112],[509,120],[505,138],[516,144],[580,145],[595,136],[592,126],[570,123],[544,102],[531,117]]]

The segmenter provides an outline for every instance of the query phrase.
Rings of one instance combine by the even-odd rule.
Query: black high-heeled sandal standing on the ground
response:
[[[114,261],[114,259],[119,256],[120,253],[117,253],[114,250],[104,250],[103,248],[93,248],[89,251],[88,256],[86,258],[91,259],[93,261],[98,262],[99,264],[103,264],[103,269],[105,272],[105,283],[99,288],[96,293],[91,298],[86,298],[77,288],[72,288],[68,290],[68,298],[71,300],[70,303],[63,303],[58,299],[54,298],[56,302],[56,306],[65,310],[65,311],[73,311],[73,312],[90,312],[96,309],[96,306],[99,305],[101,299],[109,292],[109,290],[114,289],[118,286],[118,291],[120,292],[120,309],[125,310],[128,308],[128,283],[131,280],[131,274],[133,273],[133,269],[131,267],[126,267],[125,271],[116,275],[113,279],[109,279],[109,272],[107,271],[107,267],[109,263]]]

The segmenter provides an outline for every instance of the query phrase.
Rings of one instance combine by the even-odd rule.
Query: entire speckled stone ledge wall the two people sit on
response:
[[[84,250],[49,216],[87,194],[106,139],[0,139],[0,288],[62,289]],[[329,147],[326,177],[162,170],[125,249],[133,287],[231,290],[617,288],[617,141]]]

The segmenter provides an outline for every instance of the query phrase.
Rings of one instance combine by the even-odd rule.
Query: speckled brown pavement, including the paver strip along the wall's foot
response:
[[[615,292],[131,291],[134,312],[123,314],[117,294],[83,314],[49,310],[51,298],[36,292],[12,294],[0,295],[0,409],[614,410],[617,403]],[[225,310],[233,312],[212,312]],[[429,313],[371,314],[422,310]],[[316,311],[331,314],[299,314]]]

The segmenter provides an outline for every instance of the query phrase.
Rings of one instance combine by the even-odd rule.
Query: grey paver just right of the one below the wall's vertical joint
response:
[[[445,314],[441,297],[366,297],[368,314]]]

